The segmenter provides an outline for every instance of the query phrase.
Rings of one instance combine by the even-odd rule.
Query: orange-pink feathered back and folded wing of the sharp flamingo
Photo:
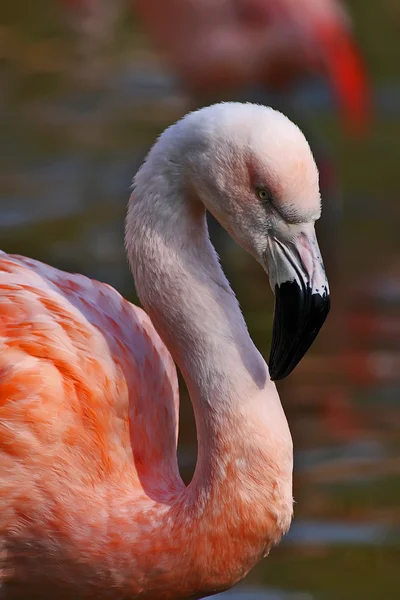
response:
[[[119,499],[168,500],[177,424],[176,369],[144,311],[0,253],[0,559],[9,536],[90,536]]]

